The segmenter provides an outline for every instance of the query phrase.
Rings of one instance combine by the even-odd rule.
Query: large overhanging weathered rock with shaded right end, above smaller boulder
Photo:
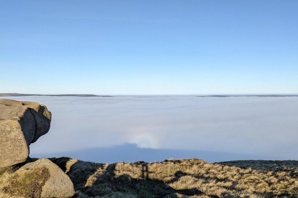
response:
[[[50,122],[44,105],[0,99],[0,168],[24,162],[29,145],[49,131]]]

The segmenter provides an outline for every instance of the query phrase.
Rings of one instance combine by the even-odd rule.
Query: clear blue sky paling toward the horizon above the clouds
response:
[[[298,1],[1,1],[0,92],[298,93]]]

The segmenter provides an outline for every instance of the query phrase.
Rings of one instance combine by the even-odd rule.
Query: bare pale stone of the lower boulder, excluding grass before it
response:
[[[74,185],[71,179],[51,160],[39,159],[25,164],[15,174],[43,167],[49,170],[50,176],[42,186],[41,198],[68,198],[74,195]]]

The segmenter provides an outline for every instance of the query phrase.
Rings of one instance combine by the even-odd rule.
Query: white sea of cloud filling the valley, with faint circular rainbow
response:
[[[298,97],[3,98],[36,101],[52,112],[51,128],[31,144],[31,157],[298,160]]]

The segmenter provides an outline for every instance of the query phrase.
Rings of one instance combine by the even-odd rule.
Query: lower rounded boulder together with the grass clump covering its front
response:
[[[75,193],[71,179],[48,159],[20,167],[4,183],[2,191],[12,196],[41,198],[69,198]]]

